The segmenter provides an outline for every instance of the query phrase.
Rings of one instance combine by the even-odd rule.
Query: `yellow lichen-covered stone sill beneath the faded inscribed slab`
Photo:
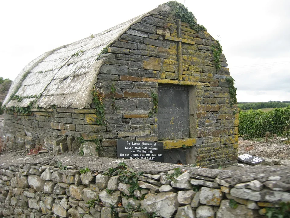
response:
[[[163,140],[163,149],[181,148],[183,145],[190,147],[202,144],[203,139],[199,138],[184,138],[184,139],[174,139],[174,140]]]

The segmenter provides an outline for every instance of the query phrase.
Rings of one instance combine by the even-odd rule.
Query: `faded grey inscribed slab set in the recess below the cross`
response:
[[[158,140],[189,138],[188,88],[158,85]]]

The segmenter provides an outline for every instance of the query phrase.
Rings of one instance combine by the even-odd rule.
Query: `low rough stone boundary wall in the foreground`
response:
[[[0,217],[251,218],[290,201],[287,167],[236,171],[146,160],[7,155],[0,161]]]

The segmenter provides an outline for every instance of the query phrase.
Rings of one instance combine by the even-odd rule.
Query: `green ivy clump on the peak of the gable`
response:
[[[168,5],[172,9],[172,15],[181,19],[182,22],[188,23],[191,28],[195,31],[203,30],[207,31],[203,25],[199,25],[195,22],[195,16],[192,12],[188,11],[188,9],[179,2],[170,1],[166,2],[165,5]]]

